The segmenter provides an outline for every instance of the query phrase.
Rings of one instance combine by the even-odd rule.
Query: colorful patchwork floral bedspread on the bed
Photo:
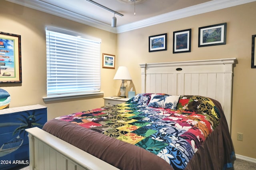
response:
[[[184,169],[218,125],[218,109],[200,96],[180,96],[177,109],[148,107],[151,94],[126,103],[58,117],[134,144],[160,156],[174,169]]]

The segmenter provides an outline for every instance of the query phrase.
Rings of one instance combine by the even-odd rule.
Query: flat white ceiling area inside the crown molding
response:
[[[82,16],[87,16],[99,22],[111,25],[111,18],[114,14],[104,8],[96,6],[87,0],[41,0],[48,4],[58,6],[60,8],[76,12]],[[106,6],[124,16],[115,15],[117,18],[117,26],[129,24],[138,20],[150,18],[174,10],[194,6],[210,0],[138,0],[142,2],[136,4],[134,15],[134,2],[130,0],[93,0],[98,4]],[[127,3],[124,3],[127,2]]]

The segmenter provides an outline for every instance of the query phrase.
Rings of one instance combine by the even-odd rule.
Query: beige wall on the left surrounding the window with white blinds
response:
[[[46,97],[46,36],[45,27],[87,34],[102,40],[101,52],[116,53],[116,34],[79,24],[57,16],[32,10],[7,1],[1,1],[1,32],[21,35],[22,83],[4,83],[0,88],[11,95],[10,107],[41,104],[48,107],[48,119],[61,115],[98,108],[104,105],[103,96],[44,103]],[[113,86],[114,69],[101,70],[101,90],[104,96],[117,95]],[[118,88],[118,87],[117,87]]]

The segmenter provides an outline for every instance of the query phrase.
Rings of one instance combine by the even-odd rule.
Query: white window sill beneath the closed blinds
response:
[[[76,99],[81,97],[94,97],[94,96],[102,96],[104,92],[96,92],[96,93],[77,93],[77,94],[68,94],[68,95],[52,95],[43,97],[44,102],[47,101],[57,101],[57,100],[66,100],[66,99]]]

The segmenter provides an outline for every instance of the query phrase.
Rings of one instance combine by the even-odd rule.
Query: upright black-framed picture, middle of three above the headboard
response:
[[[172,53],[186,53],[191,51],[191,29],[173,32]]]

